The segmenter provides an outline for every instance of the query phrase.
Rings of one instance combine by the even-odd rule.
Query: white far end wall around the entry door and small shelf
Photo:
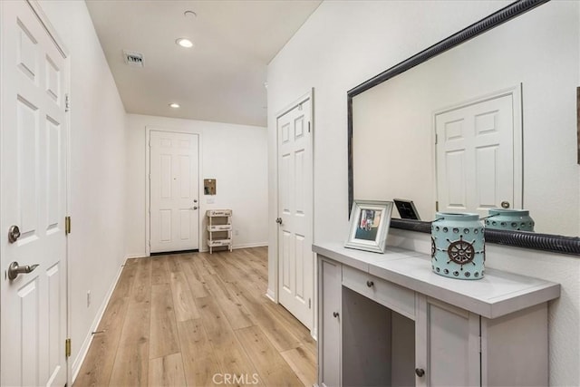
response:
[[[231,208],[234,248],[267,244],[267,133],[266,128],[229,123],[128,115],[126,255],[145,256],[145,158],[147,126],[188,131],[200,137],[199,215],[209,208]],[[217,179],[217,195],[203,196],[203,179]],[[214,203],[208,204],[208,198]],[[205,225],[205,223],[203,223]],[[207,234],[201,228],[202,249]]]

